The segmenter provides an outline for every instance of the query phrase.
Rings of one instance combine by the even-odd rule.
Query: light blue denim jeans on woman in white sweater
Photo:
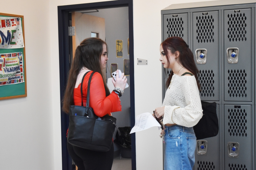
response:
[[[165,126],[164,131],[164,170],[192,170],[196,150],[193,127]]]

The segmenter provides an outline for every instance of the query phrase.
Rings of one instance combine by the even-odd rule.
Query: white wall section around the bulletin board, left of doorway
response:
[[[13,0],[1,12],[24,15],[28,97],[0,100],[0,169],[51,170],[54,147],[49,1]]]

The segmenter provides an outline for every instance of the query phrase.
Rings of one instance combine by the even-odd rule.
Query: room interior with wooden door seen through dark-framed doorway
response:
[[[89,37],[101,38],[108,44],[108,62],[107,68],[104,70],[105,78],[109,81],[107,84],[112,83],[111,73],[115,72],[117,69],[121,70],[123,73],[125,72],[124,67],[128,66],[124,63],[129,61],[128,7],[73,11],[70,12],[69,15],[71,15],[69,17],[71,18],[71,20],[69,20],[70,26],[75,27],[75,35],[72,36],[72,40],[70,41],[70,46],[72,47],[72,50],[70,50],[71,63],[74,51],[81,41]],[[122,47],[120,47],[120,44]],[[121,52],[121,55],[117,55],[118,50]],[[127,77],[127,83],[129,85],[130,74],[127,69],[125,76]],[[126,88],[124,92],[125,94],[121,98],[122,111],[113,112],[112,116],[117,119],[116,125],[118,128],[127,127],[129,129],[131,128],[130,88]],[[112,169],[132,169],[131,145],[123,146],[117,144],[116,132],[117,130],[115,130],[113,135],[114,162]],[[130,133],[130,131],[128,131],[128,133]]]

